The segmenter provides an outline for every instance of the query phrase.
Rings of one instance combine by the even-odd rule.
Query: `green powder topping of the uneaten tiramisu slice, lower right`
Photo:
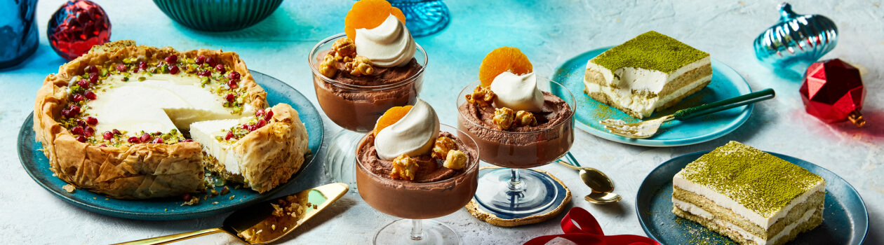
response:
[[[681,174],[767,218],[825,182],[807,169],[735,141],[691,162]]]

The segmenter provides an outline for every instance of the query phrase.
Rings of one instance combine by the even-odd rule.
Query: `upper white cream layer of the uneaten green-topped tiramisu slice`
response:
[[[817,191],[824,191],[826,189],[826,182],[819,182],[811,189],[792,199],[792,201],[790,201],[789,204],[786,204],[786,206],[782,207],[779,212],[774,213],[771,217],[764,217],[761,216],[761,214],[758,214],[757,212],[753,212],[750,209],[746,208],[746,206],[744,206],[743,204],[737,203],[736,201],[734,201],[734,199],[731,199],[730,197],[724,196],[723,194],[714,191],[713,189],[709,189],[704,185],[700,185],[684,179],[682,177],[682,172],[675,174],[675,176],[673,177],[673,185],[674,187],[693,192],[694,194],[697,194],[701,197],[712,200],[713,203],[729,209],[730,211],[743,217],[743,219],[747,219],[750,222],[765,229],[773,226],[773,223],[776,223],[777,220],[786,217],[786,215],[789,214],[789,211],[791,211],[792,208],[795,207],[797,204],[806,202],[807,198],[811,197],[814,193],[817,193]],[[673,198],[673,200],[675,199]]]

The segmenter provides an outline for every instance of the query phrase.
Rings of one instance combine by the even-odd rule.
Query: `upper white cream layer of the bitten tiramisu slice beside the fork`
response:
[[[660,93],[660,91],[663,91],[663,87],[675,78],[681,77],[688,71],[707,65],[711,61],[712,59],[709,56],[706,56],[696,62],[682,66],[682,68],[679,68],[678,70],[664,73],[662,71],[653,71],[636,67],[624,67],[611,71],[597,63],[592,63],[592,60],[590,60],[590,62],[586,64],[586,70],[600,72],[609,86],[620,87],[627,91],[635,90]],[[617,77],[614,77],[615,74]]]

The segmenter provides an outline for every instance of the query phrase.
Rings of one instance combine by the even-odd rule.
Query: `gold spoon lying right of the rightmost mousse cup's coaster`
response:
[[[620,202],[622,197],[613,193],[613,182],[611,182],[611,178],[602,171],[592,167],[580,167],[580,163],[577,162],[577,159],[574,157],[571,152],[568,152],[565,155],[568,160],[571,161],[571,164],[564,160],[557,160],[561,165],[570,167],[572,169],[577,170],[577,173],[580,174],[580,179],[583,180],[583,183],[586,186],[592,189],[590,195],[586,195],[583,199],[586,199],[587,202],[593,204],[610,204]]]

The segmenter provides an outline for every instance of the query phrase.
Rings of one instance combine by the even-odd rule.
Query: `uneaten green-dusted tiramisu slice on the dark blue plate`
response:
[[[673,212],[740,244],[783,244],[822,223],[826,180],[731,141],[673,178]]]

